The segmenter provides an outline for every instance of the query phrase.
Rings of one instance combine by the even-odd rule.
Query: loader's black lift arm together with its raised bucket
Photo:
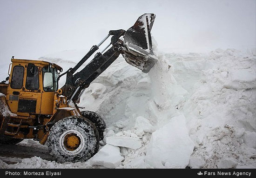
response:
[[[70,68],[67,72],[61,74],[59,78],[67,74],[66,83],[61,89],[69,102],[72,100],[77,103],[90,83],[104,72],[120,54],[130,65],[148,73],[156,60],[152,51],[150,33],[154,20],[155,14],[145,13],[127,31],[122,29],[109,31],[108,35],[98,45],[92,46],[74,68]],[[109,36],[112,36],[111,43],[101,53],[96,53],[94,58],[80,72],[75,73]],[[111,47],[108,49],[109,46]]]

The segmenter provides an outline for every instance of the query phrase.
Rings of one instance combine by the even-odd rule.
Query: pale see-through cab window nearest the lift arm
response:
[[[58,73],[56,68],[45,66],[42,70],[43,73],[43,88],[45,92],[55,92],[58,90]],[[52,73],[52,75],[49,75],[49,73]],[[48,77],[52,76],[52,83],[49,84],[49,82],[44,81],[49,80]]]

